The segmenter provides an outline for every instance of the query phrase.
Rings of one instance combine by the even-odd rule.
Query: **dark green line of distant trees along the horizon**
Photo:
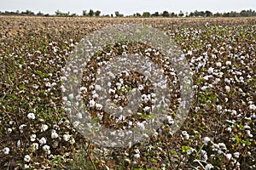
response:
[[[248,10],[241,10],[241,12],[236,12],[236,11],[231,11],[227,13],[212,13],[211,11],[197,11],[195,12],[183,12],[180,11],[178,14],[169,12],[167,10],[163,12],[143,12],[141,13],[135,13],[132,15],[127,15],[125,16],[124,14],[120,14],[119,11],[115,11],[114,14],[102,14],[100,10],[93,10],[90,9],[89,11],[83,10],[82,14],[75,14],[75,13],[70,13],[70,12],[61,12],[61,10],[55,11],[55,14],[43,14],[42,12],[38,12],[35,14],[31,10],[26,10],[20,12],[19,10],[15,12],[9,12],[9,11],[4,11],[1,12],[0,14],[2,15],[29,15],[29,16],[57,16],[57,17],[74,17],[74,16],[84,16],[84,17],[142,17],[142,18],[149,18],[149,17],[166,17],[166,18],[175,18],[175,17],[252,17],[256,16],[256,12],[252,9]]]

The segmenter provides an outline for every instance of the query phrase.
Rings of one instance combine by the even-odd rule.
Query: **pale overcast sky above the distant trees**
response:
[[[179,13],[195,10],[210,10],[212,12],[230,12],[242,9],[256,8],[256,0],[0,0],[0,11],[25,11],[30,9],[35,13],[55,14],[57,9],[61,12],[82,14],[83,10],[100,10],[102,14],[129,15],[142,12],[155,11]]]

